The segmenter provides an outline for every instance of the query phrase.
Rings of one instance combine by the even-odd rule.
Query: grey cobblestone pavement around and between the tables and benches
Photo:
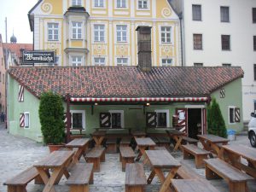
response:
[[[236,137],[235,143],[250,146],[247,136]],[[7,187],[3,186],[3,182],[7,178],[15,176],[17,173],[32,166],[46,154],[49,149],[42,146],[42,143],[35,143],[24,137],[15,137],[9,135],[0,125],[0,191],[6,192]],[[172,153],[177,160],[183,160],[181,152]],[[84,160],[80,160],[84,161]],[[183,160],[183,162],[205,177],[204,169],[195,169],[194,160]],[[150,167],[145,166],[145,172],[148,177]],[[56,192],[67,192],[68,187],[65,185],[66,178],[62,177],[61,182],[55,186]],[[222,179],[211,180],[219,191],[227,192],[228,185]],[[248,183],[251,192],[256,192],[256,181]],[[36,185],[29,183],[26,187],[28,192],[41,192],[44,185]],[[146,192],[158,192],[160,182],[157,177],[151,184],[145,188]],[[119,154],[106,154],[106,162],[101,163],[101,172],[94,173],[94,184],[90,185],[90,192],[125,192],[125,172],[121,172],[121,164],[119,163]]]

